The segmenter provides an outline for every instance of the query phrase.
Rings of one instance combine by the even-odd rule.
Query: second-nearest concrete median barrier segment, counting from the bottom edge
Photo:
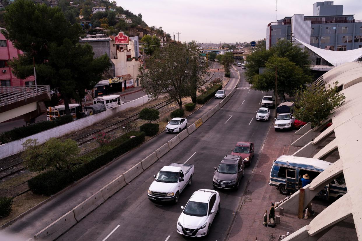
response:
[[[96,209],[104,202],[102,191],[99,190],[89,198],[85,199],[78,206],[73,208],[74,217],[79,222],[82,218],[87,216],[90,212]]]

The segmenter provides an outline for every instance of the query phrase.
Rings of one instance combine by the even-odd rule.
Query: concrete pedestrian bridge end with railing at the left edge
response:
[[[50,100],[49,85],[1,86],[0,123],[22,115],[31,122],[46,111],[44,100]]]

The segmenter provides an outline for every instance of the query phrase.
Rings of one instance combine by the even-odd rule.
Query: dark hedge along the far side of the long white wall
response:
[[[39,121],[33,125],[16,127],[8,132],[3,132],[0,135],[0,143],[8,143],[11,141],[16,141],[18,139],[28,137],[29,135],[34,135],[44,130],[54,128],[55,126],[63,125],[68,122],[71,122],[73,117],[71,115],[60,116],[54,121]]]

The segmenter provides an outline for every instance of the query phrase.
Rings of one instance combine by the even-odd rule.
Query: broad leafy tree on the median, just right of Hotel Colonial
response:
[[[156,97],[167,92],[182,109],[182,98],[191,96],[205,84],[209,66],[199,61],[194,42],[173,43],[154,52],[142,73],[147,94]]]

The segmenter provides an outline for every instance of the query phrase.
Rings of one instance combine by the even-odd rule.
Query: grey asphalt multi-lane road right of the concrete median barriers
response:
[[[235,72],[232,74],[235,77]],[[111,232],[113,233],[107,241],[194,240],[181,237],[175,231],[177,218],[182,211],[180,206],[186,204],[195,190],[212,189],[214,167],[225,155],[230,154],[230,149],[237,141],[251,141],[256,147],[252,165],[245,170],[244,180],[238,191],[219,190],[221,211],[211,227],[210,236],[206,238],[224,240],[271,125],[271,120],[255,121],[255,111],[264,94],[249,90],[248,87],[249,84],[242,81],[239,90],[228,103],[205,124],[58,240],[104,240]],[[195,166],[195,174],[193,184],[180,195],[178,204],[155,205],[150,202],[147,190],[153,181],[152,175],[164,165],[184,163],[186,160],[188,164]]]

